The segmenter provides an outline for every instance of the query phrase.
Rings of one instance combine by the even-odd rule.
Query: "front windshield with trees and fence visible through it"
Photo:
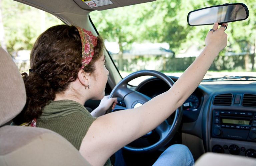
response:
[[[256,7],[254,1],[240,2],[247,5],[249,18],[229,23],[226,30],[228,45],[216,57],[205,79],[256,76]],[[227,2],[157,0],[93,11],[90,18],[105,39],[106,48],[122,77],[143,69],[180,76],[200,54],[205,36],[212,28],[212,25],[189,26],[187,14],[195,9],[224,3]]]

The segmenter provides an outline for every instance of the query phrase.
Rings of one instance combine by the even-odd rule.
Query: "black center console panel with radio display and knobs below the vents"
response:
[[[213,110],[212,152],[256,158],[256,113]]]

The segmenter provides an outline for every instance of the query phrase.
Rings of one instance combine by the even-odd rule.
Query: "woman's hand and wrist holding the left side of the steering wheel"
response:
[[[93,110],[93,112],[91,112],[91,115],[93,117],[102,116],[110,107],[112,107],[112,110],[113,110],[116,104],[117,104],[117,98],[109,98],[109,95],[104,96],[103,99],[101,99],[100,101],[100,105],[95,110]]]

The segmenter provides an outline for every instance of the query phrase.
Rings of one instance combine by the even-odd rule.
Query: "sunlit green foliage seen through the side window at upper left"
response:
[[[10,54],[18,50],[30,50],[43,31],[62,24],[54,16],[19,2],[1,0],[0,6],[4,27],[4,34],[1,32],[1,35],[5,36]]]

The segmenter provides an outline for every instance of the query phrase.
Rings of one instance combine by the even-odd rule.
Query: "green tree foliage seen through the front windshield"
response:
[[[248,51],[255,45],[256,5],[254,0],[230,1],[244,3],[250,15],[245,21],[229,23],[229,43],[226,51]],[[157,0],[150,3],[94,11],[90,14],[99,33],[108,41],[167,42],[175,52],[195,43],[204,45],[212,25],[190,27],[187,14],[195,9],[229,3],[224,0]],[[126,47],[128,47],[126,45]],[[250,48],[249,48],[250,47]],[[125,48],[123,48],[125,49]]]

